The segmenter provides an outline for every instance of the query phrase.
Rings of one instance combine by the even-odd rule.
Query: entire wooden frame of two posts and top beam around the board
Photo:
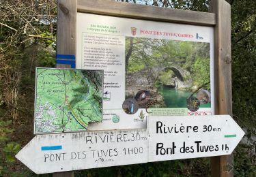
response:
[[[77,12],[214,27],[215,114],[232,115],[230,11],[231,7],[225,0],[212,0],[209,13],[106,0],[58,0],[57,54],[76,54]],[[70,65],[57,63],[57,67],[68,68]],[[225,170],[230,165],[233,167],[233,155],[212,157],[212,176],[233,176],[233,170]],[[60,172],[53,176],[74,174]]]

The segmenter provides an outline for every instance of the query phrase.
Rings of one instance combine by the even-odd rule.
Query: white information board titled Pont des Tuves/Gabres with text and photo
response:
[[[103,121],[89,130],[214,114],[212,27],[86,13],[76,24],[76,67],[104,70]]]

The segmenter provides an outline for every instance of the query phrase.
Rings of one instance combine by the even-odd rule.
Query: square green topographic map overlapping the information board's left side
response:
[[[102,70],[36,68],[34,133],[87,131],[102,123]]]

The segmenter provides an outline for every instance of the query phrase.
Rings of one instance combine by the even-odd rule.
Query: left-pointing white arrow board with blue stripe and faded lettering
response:
[[[16,158],[36,174],[147,162],[147,130],[36,135]]]

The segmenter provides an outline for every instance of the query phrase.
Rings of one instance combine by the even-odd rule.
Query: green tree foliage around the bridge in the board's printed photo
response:
[[[210,44],[203,42],[183,42],[166,39],[150,39],[134,37],[126,38],[126,56],[132,51],[126,62],[126,71],[133,73],[150,68],[162,68],[154,80],[154,86],[171,84],[171,78],[177,76],[171,69],[172,66],[181,67],[188,74],[184,74],[183,80],[190,80],[198,87],[210,89]],[[178,76],[177,76],[178,77]]]

